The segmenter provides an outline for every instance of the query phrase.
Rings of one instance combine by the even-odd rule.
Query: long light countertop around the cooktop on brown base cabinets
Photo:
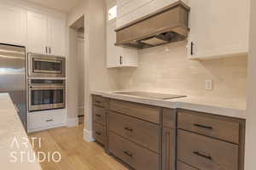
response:
[[[179,99],[148,99],[143,97],[113,94],[108,91],[92,91],[91,94],[101,95],[111,99],[121,99],[146,105],[156,105],[171,109],[186,109],[190,111],[201,111],[219,116],[230,116],[246,119],[246,101],[230,100],[220,98],[202,98],[198,96],[187,96]]]

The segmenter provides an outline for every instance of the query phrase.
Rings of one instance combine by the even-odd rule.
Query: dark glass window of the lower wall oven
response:
[[[61,104],[64,102],[64,90],[32,90],[32,105]]]

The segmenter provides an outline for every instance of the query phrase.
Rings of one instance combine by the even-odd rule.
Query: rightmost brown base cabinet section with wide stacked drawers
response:
[[[243,170],[244,134],[245,120],[180,110],[177,160],[198,169]]]

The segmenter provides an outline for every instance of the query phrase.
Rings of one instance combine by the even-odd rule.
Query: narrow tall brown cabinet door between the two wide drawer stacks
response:
[[[175,170],[175,129],[163,127],[162,170]]]

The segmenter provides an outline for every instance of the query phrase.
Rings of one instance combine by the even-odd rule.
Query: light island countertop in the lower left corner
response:
[[[24,144],[28,141],[27,139],[26,131],[9,94],[0,94],[1,169],[41,170],[38,161],[29,161],[32,160],[35,152],[32,149],[32,144],[29,142]],[[31,159],[28,160],[28,156],[31,156]],[[15,158],[16,162],[12,162],[15,161]]]

